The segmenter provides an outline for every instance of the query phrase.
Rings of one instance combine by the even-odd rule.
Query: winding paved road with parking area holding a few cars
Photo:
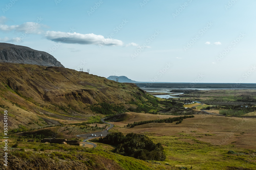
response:
[[[102,118],[101,121],[102,121],[103,123],[106,123],[106,124],[109,124],[109,125],[110,125],[110,127],[108,127],[108,130],[103,130],[102,132],[95,132],[95,133],[93,133],[93,135],[96,135],[96,136],[91,136],[91,133],[83,134],[83,135],[77,135],[77,137],[82,137],[82,138],[86,138],[86,137],[87,137],[86,139],[83,140],[83,143],[82,143],[83,146],[85,146],[85,144],[89,144],[89,145],[92,145],[93,148],[96,148],[96,145],[95,145],[94,143],[86,142],[86,141],[87,141],[88,139],[100,137],[100,135],[102,135],[102,136],[107,136],[108,134],[110,134],[110,132],[108,132],[108,131],[109,131],[109,129],[111,129],[112,127],[114,127],[114,125],[111,124],[111,123],[105,122],[105,121],[104,121],[105,118],[106,118],[106,117]]]

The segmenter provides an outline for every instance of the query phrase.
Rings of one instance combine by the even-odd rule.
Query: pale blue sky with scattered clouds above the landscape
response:
[[[256,83],[255,0],[2,0],[0,42],[143,82]]]

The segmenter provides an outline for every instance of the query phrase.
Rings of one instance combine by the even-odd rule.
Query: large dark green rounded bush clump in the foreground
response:
[[[153,143],[146,135],[129,133],[111,133],[99,142],[116,146],[114,152],[141,160],[164,161],[166,156],[161,143]]]

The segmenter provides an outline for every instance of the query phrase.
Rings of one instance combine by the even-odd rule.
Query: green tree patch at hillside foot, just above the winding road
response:
[[[118,106],[118,105],[111,105],[106,102],[100,103],[99,105],[91,105],[90,106],[91,111],[104,114],[104,115],[109,115],[109,114],[114,114],[113,111],[121,113],[126,111],[124,106]]]

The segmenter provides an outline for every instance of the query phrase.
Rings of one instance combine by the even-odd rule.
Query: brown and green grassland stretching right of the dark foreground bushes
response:
[[[115,125],[111,132],[144,134],[154,143],[160,142],[169,165],[188,169],[255,169],[256,119],[195,114],[177,125],[148,123],[130,128],[127,123],[175,116],[130,112],[126,117],[111,122]]]

